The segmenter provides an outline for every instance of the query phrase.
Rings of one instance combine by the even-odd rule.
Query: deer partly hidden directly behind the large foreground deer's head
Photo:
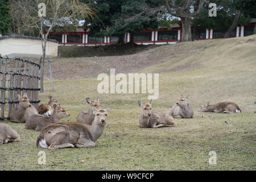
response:
[[[89,110],[88,111],[83,110],[79,114],[77,114],[76,121],[79,123],[92,125],[95,115],[93,114],[91,106],[94,107],[95,109],[101,109],[100,98],[98,98],[97,101],[92,101],[90,100],[90,98],[86,98],[86,102],[89,104]]]

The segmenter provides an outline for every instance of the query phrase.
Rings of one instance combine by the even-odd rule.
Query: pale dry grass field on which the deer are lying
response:
[[[180,50],[187,55],[180,55]],[[56,92],[52,93],[51,82],[46,81],[46,92],[40,94],[40,100],[47,102],[49,94],[55,96],[71,114],[71,117],[64,118],[63,121],[76,121],[77,113],[88,109],[86,97],[95,99],[100,96],[103,108],[111,105],[104,133],[94,148],[52,151],[36,147],[38,131],[24,129],[24,123],[5,121],[23,140],[0,145],[0,169],[255,170],[255,50],[256,35],[225,40],[200,40],[150,49],[150,53],[157,52],[159,59],[163,61],[155,60],[157,64],[149,66],[145,63],[144,68],[139,68],[136,72],[160,73],[159,98],[153,101],[152,107],[169,111],[181,93],[191,96],[188,103],[193,106],[195,117],[175,119],[176,127],[139,127],[141,107],[137,100],[146,102],[147,94],[98,94],[97,84],[100,81],[96,77],[55,80]],[[148,54],[148,51],[145,52]],[[172,56],[165,60],[165,54]],[[83,61],[80,64],[92,59],[111,61],[112,57],[81,59]],[[54,64],[62,60],[64,59],[57,59]],[[65,61],[61,64],[65,64]],[[210,104],[236,102],[242,113],[197,112],[207,101]],[[39,151],[46,152],[46,165],[38,164]],[[210,151],[217,152],[216,165],[208,163]],[[85,163],[81,163],[81,160],[85,160]]]

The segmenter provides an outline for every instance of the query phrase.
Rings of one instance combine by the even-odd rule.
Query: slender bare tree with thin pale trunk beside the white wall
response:
[[[39,15],[39,10],[43,8],[39,4],[42,2],[46,5],[45,16]],[[44,92],[44,59],[49,32],[54,27],[75,27],[80,20],[92,20],[95,15],[94,8],[79,0],[18,0],[12,4],[11,14],[23,32],[36,31],[42,38],[40,92]]]

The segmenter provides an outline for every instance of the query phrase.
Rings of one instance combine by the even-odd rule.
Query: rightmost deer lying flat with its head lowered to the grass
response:
[[[200,107],[199,112],[214,112],[214,113],[241,113],[241,109],[234,102],[219,102],[214,105],[207,104]]]

